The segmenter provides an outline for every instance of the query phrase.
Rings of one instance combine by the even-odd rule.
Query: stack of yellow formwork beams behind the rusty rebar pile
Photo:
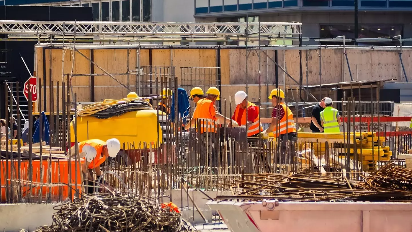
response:
[[[390,161],[392,156],[390,147],[384,144],[386,137],[378,136],[375,132],[299,133],[299,139],[301,143],[311,144],[317,159],[326,155],[333,159],[331,163],[342,165],[337,159],[345,160],[349,152],[352,160],[350,165],[353,166],[351,169],[355,169],[354,165],[359,162],[359,169],[374,171],[377,162]]]

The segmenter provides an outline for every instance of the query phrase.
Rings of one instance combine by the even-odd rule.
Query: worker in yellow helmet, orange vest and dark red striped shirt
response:
[[[272,105],[274,109],[272,111],[272,122],[267,130],[261,132],[261,136],[267,139],[269,133],[273,132],[275,137],[278,139],[278,148],[280,146],[281,152],[278,156],[279,163],[285,163],[288,157],[286,157],[286,142],[297,140],[295,121],[293,121],[293,113],[289,107],[282,102],[285,98],[285,93],[280,88],[274,89],[270,92],[268,97],[272,100]],[[292,147],[292,152],[294,152],[294,146]],[[292,154],[293,156],[293,154]]]

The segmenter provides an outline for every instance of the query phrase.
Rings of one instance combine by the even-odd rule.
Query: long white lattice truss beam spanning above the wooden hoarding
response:
[[[301,23],[260,23],[260,35],[295,36]],[[246,28],[247,27],[247,28]],[[0,33],[33,36],[150,36],[205,38],[258,36],[259,23],[243,22],[87,22],[87,21],[0,21]]]

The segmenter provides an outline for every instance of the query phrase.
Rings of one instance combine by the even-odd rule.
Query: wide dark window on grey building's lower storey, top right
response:
[[[355,26],[352,25],[321,25],[319,37],[321,38],[336,38],[337,36],[345,36],[345,38],[355,38]],[[376,38],[389,39],[394,36],[403,34],[402,25],[362,25],[358,26],[358,38]],[[342,42],[321,42],[322,45],[342,45]],[[346,45],[354,45],[353,42],[346,42]],[[373,42],[358,42],[358,45],[368,46],[399,46],[399,40],[391,41],[373,41]]]

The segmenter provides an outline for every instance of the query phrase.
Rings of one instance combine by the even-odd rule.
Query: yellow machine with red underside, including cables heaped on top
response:
[[[136,163],[141,156],[147,156],[150,149],[157,148],[158,142],[163,143],[157,114],[158,111],[143,97],[96,102],[77,110],[77,141],[117,138],[121,144],[120,153],[128,154],[122,157],[128,159],[127,163]],[[71,146],[75,143],[73,123],[74,119],[70,123]],[[155,157],[153,163],[157,163],[157,150],[152,152]]]

